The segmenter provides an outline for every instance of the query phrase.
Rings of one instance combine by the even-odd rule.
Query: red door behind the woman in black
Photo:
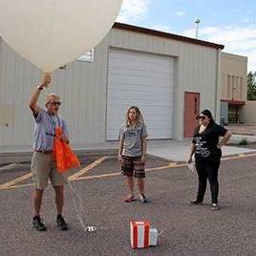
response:
[[[200,111],[200,94],[184,93],[184,138],[193,137]]]

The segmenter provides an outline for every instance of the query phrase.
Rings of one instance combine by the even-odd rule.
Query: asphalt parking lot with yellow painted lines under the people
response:
[[[117,160],[85,159],[70,176],[76,174],[71,182],[84,205],[84,223],[97,227],[94,233],[84,232],[77,221],[68,187],[64,215],[70,230],[55,227],[49,185],[41,213],[48,230],[43,233],[32,229],[31,180],[2,187],[1,255],[255,255],[255,154],[223,160],[218,212],[210,211],[209,190],[203,206],[187,205],[196,195],[197,176],[185,164],[175,164],[150,157],[146,183],[152,202],[123,203],[126,188]],[[1,184],[27,175],[29,165],[0,169]],[[162,231],[159,245],[133,250],[131,220],[149,220]]]

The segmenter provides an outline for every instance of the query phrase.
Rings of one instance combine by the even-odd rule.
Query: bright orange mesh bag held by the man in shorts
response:
[[[56,160],[57,171],[64,173],[71,168],[80,165],[79,160],[76,158],[70,145],[61,140],[62,130],[59,126],[55,128],[55,139],[53,141],[53,154]]]

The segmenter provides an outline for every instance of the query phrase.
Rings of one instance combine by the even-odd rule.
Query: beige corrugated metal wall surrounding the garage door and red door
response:
[[[53,73],[53,84],[42,93],[62,97],[75,144],[105,141],[108,53],[110,47],[177,57],[174,136],[183,134],[183,92],[200,92],[202,108],[215,108],[217,50],[139,32],[113,29],[95,49],[95,61],[75,61]],[[0,39],[0,145],[32,143],[33,123],[28,100],[40,72]],[[41,100],[43,104],[43,100]],[[7,114],[6,114],[7,113]],[[6,123],[9,123],[8,125]]]

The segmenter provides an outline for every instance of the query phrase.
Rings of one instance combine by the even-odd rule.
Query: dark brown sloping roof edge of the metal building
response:
[[[119,30],[131,31],[131,32],[147,33],[147,34],[151,34],[151,35],[155,35],[155,36],[178,40],[181,42],[203,45],[206,47],[220,49],[220,50],[224,49],[224,45],[219,45],[219,44],[215,44],[215,43],[211,43],[211,42],[207,42],[207,41],[203,41],[203,40],[199,40],[199,39],[195,39],[195,38],[191,38],[191,37],[186,37],[186,36],[182,36],[182,35],[178,35],[178,34],[174,34],[174,33],[155,31],[155,30],[146,29],[146,28],[129,25],[129,24],[124,24],[124,23],[119,23],[119,22],[114,23],[113,29],[119,29]]]

